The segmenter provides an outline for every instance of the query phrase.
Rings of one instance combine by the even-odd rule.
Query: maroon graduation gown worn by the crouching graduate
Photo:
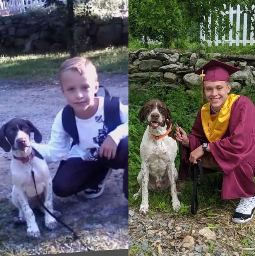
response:
[[[204,134],[201,108],[188,136],[190,148],[183,147],[183,168],[179,179],[188,177],[190,152],[209,142]],[[245,96],[240,96],[231,107],[229,126],[221,139],[210,143],[210,159],[223,170],[222,199],[252,197],[255,194],[255,106]],[[204,173],[214,171],[203,168]]]

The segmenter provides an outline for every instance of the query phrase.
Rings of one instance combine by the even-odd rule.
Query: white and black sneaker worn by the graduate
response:
[[[252,220],[255,209],[255,196],[241,197],[240,203],[236,207],[236,212],[232,217],[234,223],[244,224]]]

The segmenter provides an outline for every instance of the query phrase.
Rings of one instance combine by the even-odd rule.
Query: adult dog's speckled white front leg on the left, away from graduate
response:
[[[147,166],[144,163],[144,161],[142,161],[141,172],[142,172],[142,202],[140,205],[139,213],[147,214],[149,212],[149,202],[148,202],[149,166]]]

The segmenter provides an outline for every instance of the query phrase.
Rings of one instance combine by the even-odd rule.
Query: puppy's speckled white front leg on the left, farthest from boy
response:
[[[14,193],[17,196],[17,200],[20,203],[22,211],[24,213],[24,218],[27,223],[27,235],[30,237],[40,237],[40,231],[36,223],[36,218],[34,216],[33,210],[30,208],[27,196],[22,189],[14,187]]]

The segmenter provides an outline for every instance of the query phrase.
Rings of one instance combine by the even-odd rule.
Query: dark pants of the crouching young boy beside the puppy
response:
[[[96,189],[109,168],[125,169],[123,192],[128,198],[128,137],[120,141],[114,159],[83,161],[81,158],[69,158],[61,161],[53,178],[53,192],[59,197],[68,197],[88,188]]]

